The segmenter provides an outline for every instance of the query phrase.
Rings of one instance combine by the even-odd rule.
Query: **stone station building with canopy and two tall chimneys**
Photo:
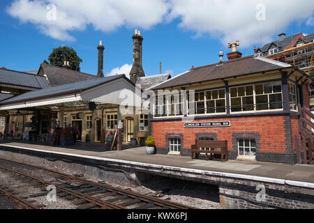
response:
[[[33,130],[36,141],[46,141],[47,134],[54,130],[57,123],[60,128],[67,125],[76,125],[79,130],[78,141],[104,142],[107,134],[113,134],[121,121],[121,143],[130,144],[132,139],[144,146],[144,139],[149,135],[149,114],[142,112],[141,105],[135,105],[135,85],[142,90],[159,84],[171,78],[170,74],[146,76],[142,68],[142,42],[144,40],[140,31],[135,30],[133,35],[133,68],[130,79],[125,75],[104,77],[103,63],[104,50],[102,41],[98,45],[97,75],[77,72],[68,68],[40,64],[40,68],[33,71],[33,75],[20,72],[14,76],[16,82],[31,82],[31,78],[39,78],[43,86],[35,86],[33,92],[19,91],[14,95],[0,100],[0,116],[6,117],[8,122],[7,134],[11,138],[22,139],[22,134]],[[0,70],[8,72],[8,70]],[[24,77],[25,76],[25,77]],[[12,78],[11,78],[12,79]],[[10,80],[7,80],[8,82]],[[33,81],[38,83],[38,81]],[[40,83],[41,83],[40,82]],[[8,85],[8,83],[6,84]],[[37,84],[38,85],[38,84]],[[41,89],[41,90],[40,90]],[[3,89],[5,90],[5,89]],[[40,91],[39,91],[40,90]],[[89,95],[85,93],[89,92]],[[141,92],[141,90],[139,90]],[[121,93],[128,94],[130,100],[123,102],[119,98]],[[6,95],[3,95],[7,96]],[[141,98],[141,96],[139,96]],[[8,100],[8,98],[10,98]],[[141,99],[139,99],[141,100]],[[90,103],[94,102],[94,104]],[[129,114],[122,111],[119,114],[119,105],[128,107]],[[92,108],[91,108],[92,107]],[[132,107],[132,108],[131,108]],[[121,116],[120,116],[121,115]],[[16,128],[18,125],[19,128]]]

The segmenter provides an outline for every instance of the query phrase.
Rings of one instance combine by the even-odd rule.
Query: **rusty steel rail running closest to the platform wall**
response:
[[[20,162],[15,162],[15,161],[11,161],[11,160],[5,160],[5,159],[2,159],[2,158],[0,160],[4,160],[6,162],[13,162],[13,163],[16,163],[16,164],[21,164],[21,165],[24,165],[24,166],[27,166],[27,167],[36,168],[36,169],[43,169],[45,171],[52,172],[52,173],[57,174],[59,176],[62,176],[64,178],[75,180],[75,181],[81,182],[81,183],[89,183],[92,186],[99,187],[99,188],[102,188],[102,189],[105,189],[105,190],[109,190],[109,191],[112,191],[112,192],[117,192],[117,194],[126,195],[126,196],[128,196],[130,198],[133,198],[133,199],[140,199],[141,201],[143,201],[145,203],[154,203],[156,206],[160,206],[160,207],[167,206],[170,209],[197,209],[197,208],[193,208],[191,206],[186,206],[186,205],[181,204],[181,203],[176,203],[176,202],[172,202],[172,201],[165,201],[163,199],[157,199],[156,197],[152,197],[152,196],[149,196],[149,195],[143,195],[143,194],[138,194],[137,192],[132,192],[132,191],[129,191],[129,190],[122,190],[122,189],[114,188],[114,187],[112,187],[110,185],[104,185],[104,184],[101,184],[101,183],[94,183],[94,182],[92,182],[90,180],[84,180],[84,179],[81,179],[81,178],[77,178],[75,176],[70,176],[68,174],[62,174],[62,173],[59,173],[59,172],[51,170],[51,169],[46,169],[44,167],[36,167],[36,166],[31,165],[31,164],[23,164],[23,163],[20,163]]]

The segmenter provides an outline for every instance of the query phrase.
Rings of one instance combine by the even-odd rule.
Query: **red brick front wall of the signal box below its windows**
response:
[[[184,128],[182,121],[156,121],[152,123],[152,134],[156,146],[167,148],[165,135],[171,133],[184,134],[184,148],[190,148],[195,143],[195,133],[216,133],[218,140],[227,140],[228,149],[232,150],[232,134],[241,132],[258,132],[260,134],[260,151],[285,153],[285,124],[284,116],[241,117],[241,118],[209,118],[195,120],[231,121],[231,127],[220,128]]]

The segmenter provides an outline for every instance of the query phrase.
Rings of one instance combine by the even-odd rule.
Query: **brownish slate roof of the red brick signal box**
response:
[[[193,70],[188,70],[181,75],[172,77],[172,79],[158,84],[151,89],[156,90],[173,86],[197,84],[200,82],[207,82],[216,79],[237,77],[241,75],[249,75],[253,73],[288,67],[291,66],[287,63],[266,59],[262,56],[246,56],[240,59],[224,61],[223,63],[214,63],[208,66],[193,68]]]

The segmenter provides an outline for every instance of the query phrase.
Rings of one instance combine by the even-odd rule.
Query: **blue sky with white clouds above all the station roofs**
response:
[[[114,14],[118,18],[130,13],[121,21],[114,21],[115,16],[112,15],[109,18],[105,17],[110,3],[104,6],[103,12],[93,15],[92,7],[80,8],[80,4],[77,4],[74,9],[73,7],[69,9],[66,3],[59,0],[36,0],[38,5],[32,5],[33,1],[29,0],[0,1],[0,67],[21,71],[37,70],[40,63],[44,59],[47,60],[53,48],[68,45],[82,58],[81,71],[96,75],[98,53],[96,47],[99,40],[103,40],[104,72],[109,73],[112,69],[119,69],[125,64],[129,67],[132,65],[132,36],[135,29],[140,29],[144,36],[143,68],[146,75],[158,74],[159,61],[162,62],[163,72],[171,70],[174,75],[178,75],[191,66],[218,62],[220,49],[225,52],[226,60],[226,54],[230,52],[227,43],[231,40],[240,40],[239,51],[248,56],[253,54],[255,45],[258,47],[261,42],[264,44],[276,40],[278,33],[287,33],[287,36],[299,32],[314,33],[312,1],[304,1],[304,5],[299,9],[292,1],[291,3],[289,0],[278,1],[289,7],[282,12],[277,10],[277,13],[271,10],[273,8],[271,1],[264,1],[267,17],[260,21],[255,19],[255,14],[259,12],[255,6],[263,1],[256,1],[249,13],[245,14],[252,14],[249,19],[242,13],[235,13],[235,17],[230,17],[232,14],[229,12],[230,8],[226,7],[227,5],[218,5],[221,0],[220,3],[215,0],[205,1],[207,4],[203,6],[192,5],[192,1],[188,0],[184,1],[185,4],[176,0],[151,0],[153,6],[141,6],[143,8],[140,9],[138,17],[136,7],[133,9],[128,6],[128,13],[125,13],[123,1],[127,0],[121,0],[119,7],[112,6],[118,8]],[[99,2],[90,1],[91,4]],[[57,17],[59,20],[52,25],[37,16],[40,13],[47,13],[46,8],[43,8],[47,3],[54,3],[59,13],[57,15],[62,15],[61,18]],[[214,6],[211,7],[208,3],[213,3]],[[227,3],[232,4],[234,1],[226,1]],[[220,9],[220,12],[214,15],[217,9]],[[246,9],[241,5],[240,8],[233,7],[233,10],[238,12],[244,10],[245,13]],[[290,11],[291,15],[287,15]],[[280,15],[284,17],[281,18]]]

